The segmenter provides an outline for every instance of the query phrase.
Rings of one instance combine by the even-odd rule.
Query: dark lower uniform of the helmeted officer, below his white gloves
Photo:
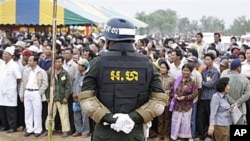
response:
[[[92,141],[145,141],[142,126],[136,126],[129,133],[116,132],[109,125],[96,124]]]

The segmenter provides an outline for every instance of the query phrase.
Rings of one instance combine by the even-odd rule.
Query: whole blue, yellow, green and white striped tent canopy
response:
[[[53,0],[0,0],[0,25],[52,25]],[[57,25],[105,24],[122,17],[137,28],[148,25],[117,9],[83,0],[57,0]]]

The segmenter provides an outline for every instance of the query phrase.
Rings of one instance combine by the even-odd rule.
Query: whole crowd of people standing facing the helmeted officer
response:
[[[250,124],[250,38],[231,38],[229,46],[214,33],[205,43],[172,38],[134,42],[160,74],[169,104],[154,118],[149,137],[155,140],[229,140],[235,106],[243,116],[235,124]],[[62,137],[88,137],[94,121],[81,109],[78,95],[92,60],[109,52],[106,39],[82,35],[58,36],[52,60],[52,39],[38,33],[8,36],[0,48],[0,131],[24,131],[24,136],[47,135],[51,67],[55,63],[52,130]],[[53,62],[54,61],[54,62]]]

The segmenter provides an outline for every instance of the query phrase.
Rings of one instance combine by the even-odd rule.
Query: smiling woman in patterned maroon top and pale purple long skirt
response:
[[[182,67],[182,75],[174,82],[174,108],[171,121],[171,138],[192,139],[191,115],[193,99],[198,94],[198,88],[191,79],[192,67],[185,64]],[[172,104],[172,102],[171,102]],[[170,105],[171,107],[171,105]]]

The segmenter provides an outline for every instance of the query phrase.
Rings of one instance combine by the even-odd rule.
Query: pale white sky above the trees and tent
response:
[[[138,12],[152,13],[159,9],[171,9],[179,17],[199,20],[203,15],[215,16],[229,27],[240,16],[250,19],[250,0],[83,0],[85,2],[113,7],[135,17]]]

